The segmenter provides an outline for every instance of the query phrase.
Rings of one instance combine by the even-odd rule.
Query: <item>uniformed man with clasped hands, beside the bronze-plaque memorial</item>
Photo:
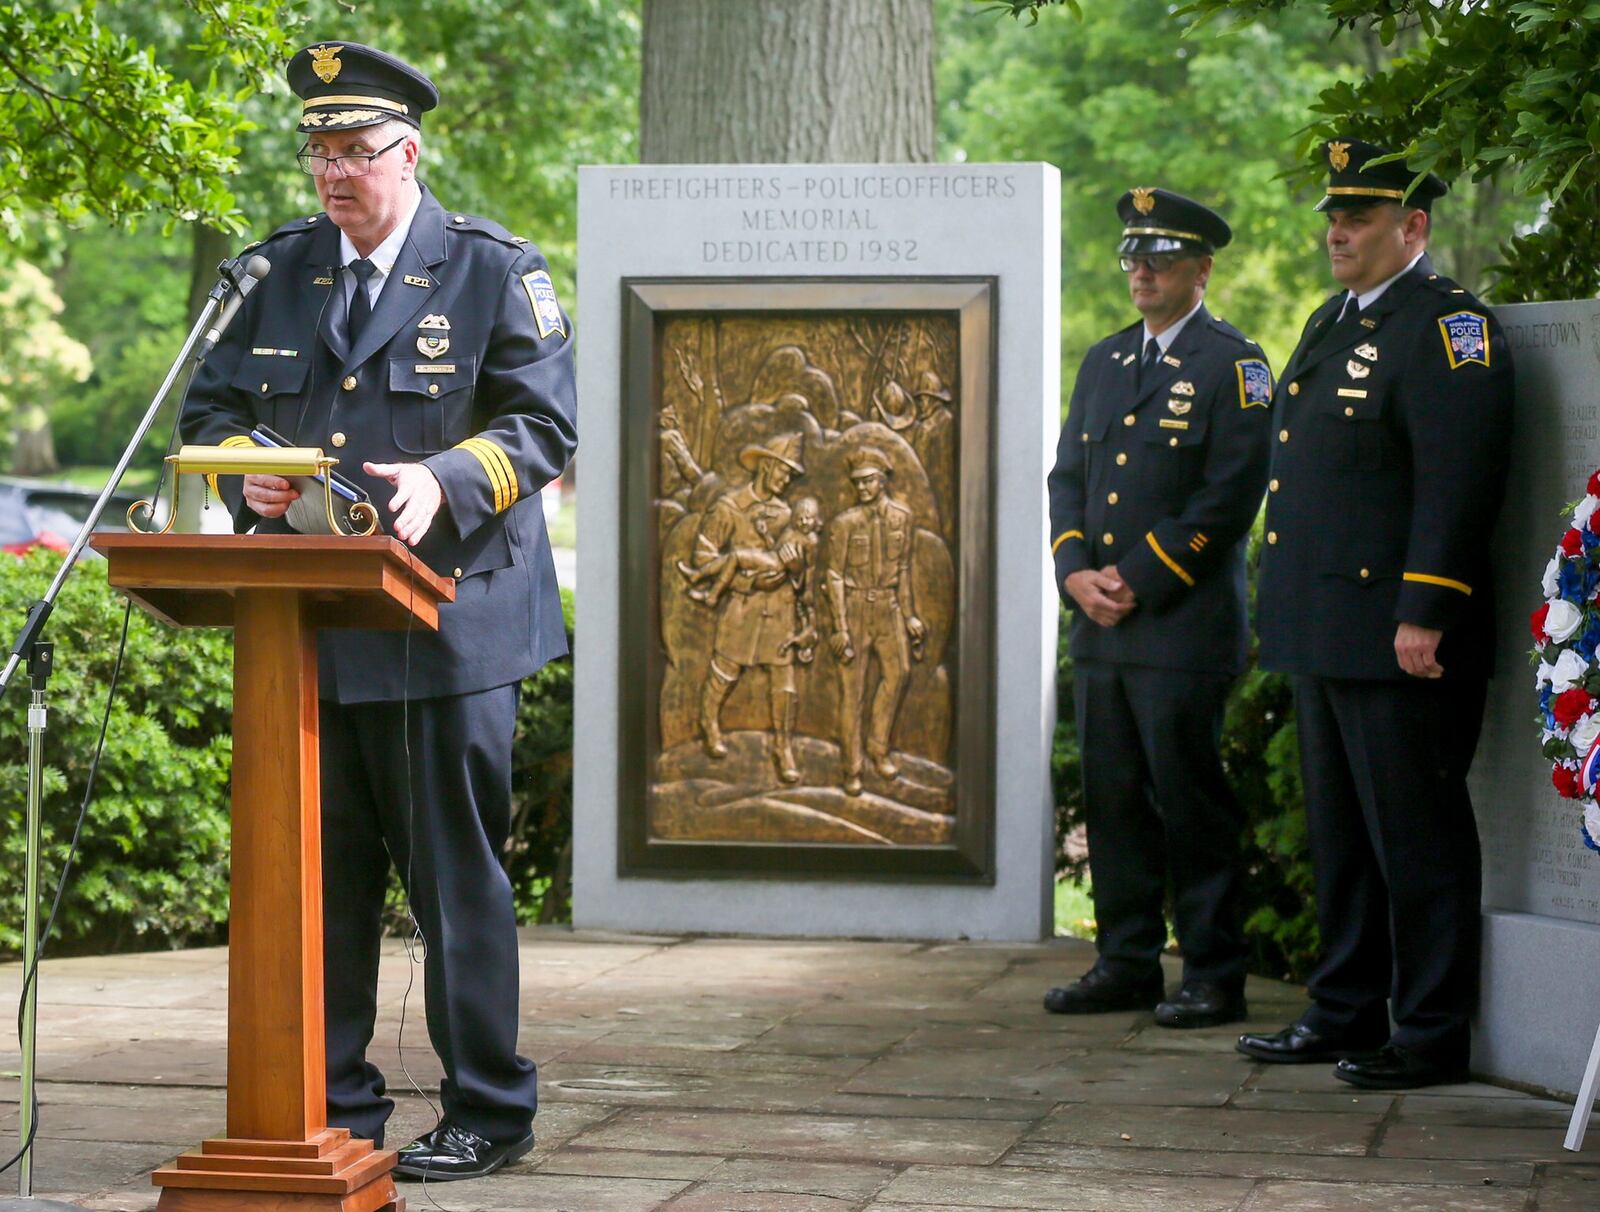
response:
[[[1205,307],[1221,216],[1162,189],[1122,197],[1139,323],[1090,349],[1050,473],[1056,585],[1072,609],[1099,958],[1045,1007],[1155,1007],[1165,1027],[1245,1017],[1243,814],[1218,755],[1245,668],[1245,544],[1267,478],[1272,371]],[[1165,998],[1173,876],[1184,979]]]

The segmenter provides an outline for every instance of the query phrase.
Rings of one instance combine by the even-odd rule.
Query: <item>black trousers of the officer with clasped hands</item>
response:
[[[1245,817],[1219,756],[1232,683],[1230,673],[1074,664],[1096,947],[1114,975],[1160,977],[1170,873],[1184,980],[1245,983]]]

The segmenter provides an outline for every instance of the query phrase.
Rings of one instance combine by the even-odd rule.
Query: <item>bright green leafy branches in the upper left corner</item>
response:
[[[126,221],[147,213],[238,230],[226,177],[248,91],[283,42],[277,0],[190,0],[202,82],[179,80],[85,3],[0,3],[0,232],[27,213]],[[219,66],[230,64],[227,86]],[[237,77],[243,77],[242,80]]]

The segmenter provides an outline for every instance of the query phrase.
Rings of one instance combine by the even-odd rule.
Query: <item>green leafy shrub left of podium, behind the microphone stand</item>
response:
[[[0,577],[0,617],[21,625],[59,558],[35,548]],[[106,710],[123,600],[106,564],[67,580],[46,638],[56,644],[45,732],[42,886],[66,860]],[[227,919],[232,643],[227,632],[162,627],[134,611],[106,755],[51,950],[214,942]],[[27,680],[0,704],[0,948],[21,947]],[[48,908],[48,905],[46,905]]]

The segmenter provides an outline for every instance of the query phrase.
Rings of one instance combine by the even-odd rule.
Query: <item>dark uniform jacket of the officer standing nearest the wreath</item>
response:
[[[1360,315],[1336,320],[1342,302],[1312,313],[1274,401],[1261,664],[1403,680],[1394,640],[1410,622],[1445,632],[1446,678],[1485,678],[1510,454],[1504,333],[1426,256]]]

